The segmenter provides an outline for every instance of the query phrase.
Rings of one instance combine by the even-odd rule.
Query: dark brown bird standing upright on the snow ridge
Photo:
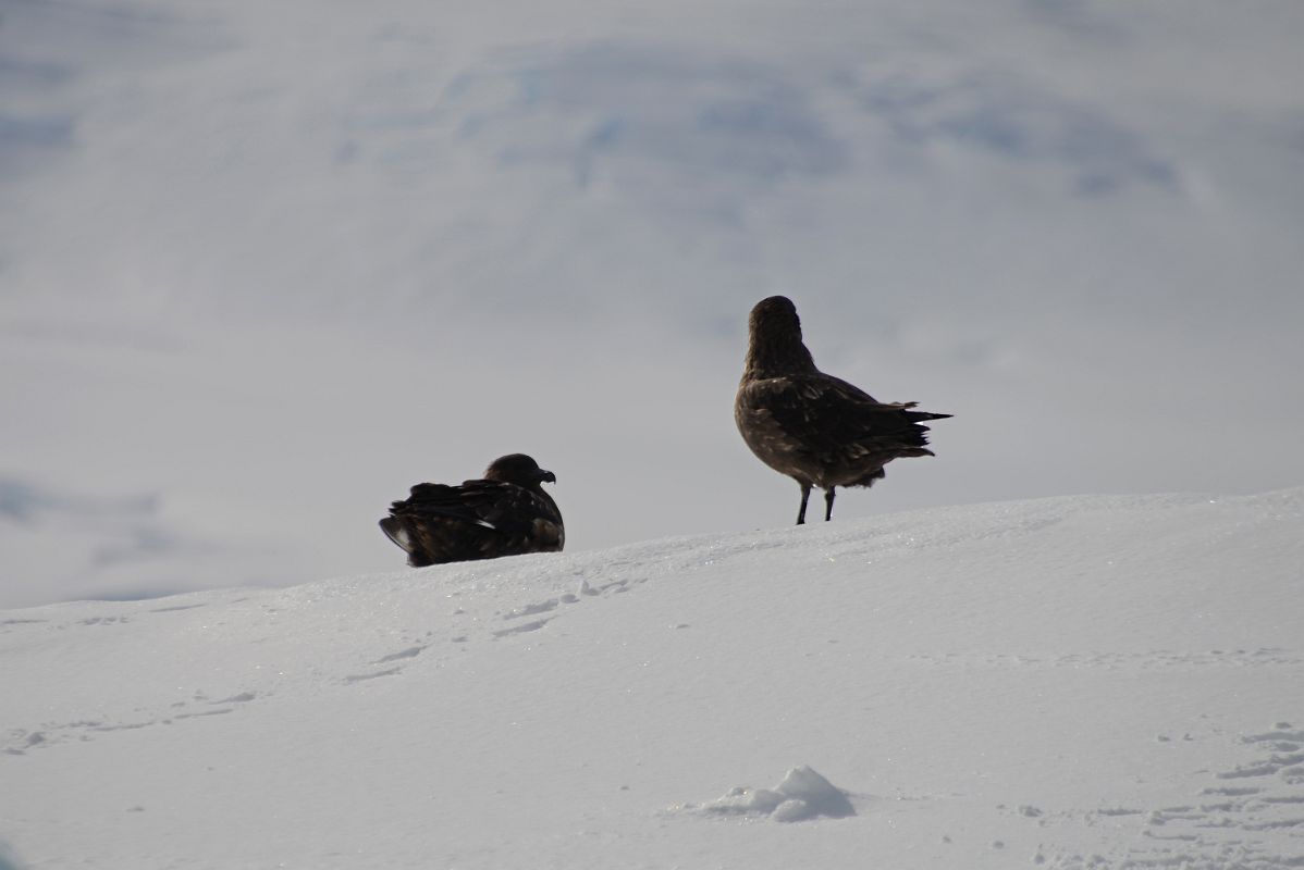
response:
[[[932,456],[919,421],[951,414],[884,404],[815,367],[802,344],[797,307],[782,296],[751,310],[747,362],[734,399],[734,421],[751,452],[802,488],[798,525],[811,487],[824,490],[824,520],[840,486],[871,486],[900,456]]]

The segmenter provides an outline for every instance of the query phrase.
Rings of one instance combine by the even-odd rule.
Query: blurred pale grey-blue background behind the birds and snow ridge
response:
[[[1304,7],[0,0],[0,607],[785,526],[746,315],[956,417],[837,516],[1304,483]]]

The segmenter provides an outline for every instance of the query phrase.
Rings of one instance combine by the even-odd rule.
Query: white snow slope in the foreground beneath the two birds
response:
[[[1301,518],[1304,488],[1058,498],[7,611],[0,840],[25,870],[1299,867]]]

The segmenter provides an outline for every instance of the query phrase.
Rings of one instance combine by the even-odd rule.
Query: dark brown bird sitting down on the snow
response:
[[[408,554],[413,568],[446,561],[558,552],[566,543],[562,514],[540,486],[552,471],[524,453],[493,461],[482,479],[460,486],[417,483],[390,507],[381,530]]]

